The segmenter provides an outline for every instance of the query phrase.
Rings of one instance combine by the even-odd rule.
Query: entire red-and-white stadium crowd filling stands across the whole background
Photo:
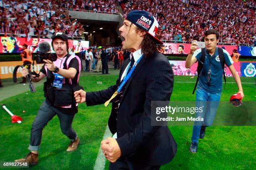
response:
[[[64,32],[83,37],[83,25],[67,10],[118,13],[147,10],[159,21],[161,40],[201,40],[208,29],[220,32],[220,42],[256,44],[254,0],[0,0],[0,33],[51,37]]]

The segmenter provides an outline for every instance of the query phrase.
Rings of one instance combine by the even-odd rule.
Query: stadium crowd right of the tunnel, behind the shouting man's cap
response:
[[[161,40],[201,40],[218,30],[220,42],[256,43],[254,0],[124,0],[124,18],[131,10],[146,10],[159,21]]]

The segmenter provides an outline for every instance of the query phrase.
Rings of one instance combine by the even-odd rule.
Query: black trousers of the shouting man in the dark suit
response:
[[[159,170],[160,166],[133,163],[129,160],[118,159],[115,163],[109,164],[109,170]]]

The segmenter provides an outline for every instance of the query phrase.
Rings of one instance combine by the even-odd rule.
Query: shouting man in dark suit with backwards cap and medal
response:
[[[155,170],[169,163],[177,151],[167,126],[151,125],[151,101],[169,102],[174,75],[167,58],[159,53],[162,42],[155,37],[158,23],[154,16],[133,10],[123,23],[119,29],[123,49],[132,53],[116,84],[98,92],[79,90],[74,95],[87,106],[112,102],[108,126],[117,137],[101,142],[110,170]]]

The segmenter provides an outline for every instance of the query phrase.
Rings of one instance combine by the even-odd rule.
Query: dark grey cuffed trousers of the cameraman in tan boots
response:
[[[55,116],[58,115],[61,132],[66,135],[71,141],[77,138],[76,132],[72,129],[72,122],[74,115],[66,115],[56,107],[49,105],[46,101],[43,102],[36,118],[32,124],[31,135],[30,135],[30,145],[29,150],[39,150],[42,138],[42,131],[47,123]],[[54,138],[54,137],[52,137]]]

